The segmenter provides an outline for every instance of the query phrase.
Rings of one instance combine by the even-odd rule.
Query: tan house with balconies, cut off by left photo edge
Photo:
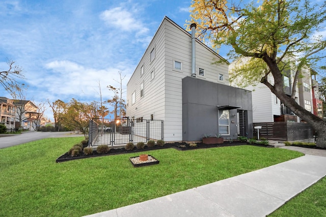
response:
[[[7,129],[15,128],[15,106],[13,100],[0,97],[0,124]]]

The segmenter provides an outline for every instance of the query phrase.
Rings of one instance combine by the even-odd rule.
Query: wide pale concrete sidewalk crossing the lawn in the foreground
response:
[[[198,188],[88,216],[265,216],[324,177],[324,165],[325,157],[307,154]]]

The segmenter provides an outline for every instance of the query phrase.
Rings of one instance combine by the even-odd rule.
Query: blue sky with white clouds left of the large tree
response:
[[[183,27],[191,1],[2,0],[0,69],[24,69],[27,99],[36,103],[111,98],[124,87],[164,16]],[[0,95],[11,98],[4,89]],[[48,109],[47,116],[51,117]]]

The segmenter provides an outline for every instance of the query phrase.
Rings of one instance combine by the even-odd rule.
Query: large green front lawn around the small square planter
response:
[[[302,156],[249,145],[146,151],[158,165],[134,168],[119,154],[55,163],[83,140],[49,138],[0,149],[0,216],[82,216],[198,187]]]

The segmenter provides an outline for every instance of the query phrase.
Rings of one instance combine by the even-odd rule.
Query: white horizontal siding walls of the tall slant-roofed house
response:
[[[150,52],[155,47],[155,59],[150,62]],[[196,42],[197,79],[228,84],[228,65],[212,65],[220,57],[201,42]],[[127,109],[129,118],[143,117],[164,120],[164,140],[182,140],[182,78],[190,76],[191,35],[180,26],[165,18],[153,40],[145,51],[138,67],[127,84]],[[179,61],[181,70],[174,69],[174,61]],[[141,76],[141,67],[144,74]],[[205,69],[205,76],[198,76],[198,69]],[[154,70],[154,79],[150,72]],[[219,81],[219,74],[224,81]],[[140,97],[140,85],[144,82],[144,97]],[[136,100],[132,104],[132,93]]]

